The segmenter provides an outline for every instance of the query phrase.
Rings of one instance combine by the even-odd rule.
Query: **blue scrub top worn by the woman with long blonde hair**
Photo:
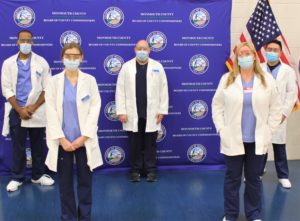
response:
[[[256,118],[252,106],[253,82],[254,78],[252,78],[252,80],[249,83],[246,83],[242,79],[244,93],[242,112],[242,137],[243,142],[245,143],[255,142]]]

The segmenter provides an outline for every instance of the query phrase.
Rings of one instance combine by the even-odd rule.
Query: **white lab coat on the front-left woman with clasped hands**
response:
[[[62,130],[64,79],[64,72],[53,76],[45,93],[46,139],[49,149],[46,165],[55,172],[57,171],[59,138],[65,137]],[[84,145],[87,164],[92,171],[103,164],[97,135],[101,98],[96,79],[81,71],[78,75],[76,102],[81,134],[89,137]]]

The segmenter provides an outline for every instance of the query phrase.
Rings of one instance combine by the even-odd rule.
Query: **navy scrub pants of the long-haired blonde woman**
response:
[[[255,154],[255,143],[244,143],[245,154],[225,155],[227,166],[224,181],[224,209],[227,220],[239,215],[239,190],[244,168],[246,183],[244,192],[245,214],[248,220],[261,219],[262,182],[260,179],[264,155]]]

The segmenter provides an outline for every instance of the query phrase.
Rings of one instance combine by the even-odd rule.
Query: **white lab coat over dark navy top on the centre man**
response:
[[[127,123],[123,123],[126,131],[138,131],[138,114],[136,106],[136,59],[123,64],[116,87],[117,115],[126,114]],[[168,114],[169,94],[168,82],[163,66],[149,59],[147,67],[147,122],[146,132],[161,130],[161,124],[156,123],[157,114]]]

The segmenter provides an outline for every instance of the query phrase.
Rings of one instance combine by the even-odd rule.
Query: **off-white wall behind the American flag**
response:
[[[257,0],[233,0],[232,47],[238,41],[257,2]],[[292,56],[298,61],[300,57],[300,0],[270,0],[270,4]],[[288,158],[300,159],[300,110],[292,113],[288,119],[287,134]],[[273,159],[273,152],[269,153],[269,159]]]

